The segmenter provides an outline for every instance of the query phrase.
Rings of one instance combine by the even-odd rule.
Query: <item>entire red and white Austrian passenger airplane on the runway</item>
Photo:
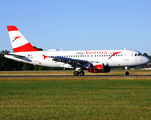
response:
[[[16,26],[7,26],[13,53],[4,56],[19,62],[57,68],[74,68],[74,76],[84,76],[84,70],[91,73],[107,73],[112,67],[125,67],[125,75],[129,75],[128,67],[145,65],[150,59],[135,50],[72,50],[63,51],[35,49],[21,34]]]

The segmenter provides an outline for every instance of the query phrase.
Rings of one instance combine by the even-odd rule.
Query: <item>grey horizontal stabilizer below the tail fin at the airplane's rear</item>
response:
[[[8,53],[8,54],[4,54],[4,56],[10,59],[15,58],[21,61],[32,62],[30,59],[28,59],[26,56],[23,56],[23,55],[16,55],[16,54]]]

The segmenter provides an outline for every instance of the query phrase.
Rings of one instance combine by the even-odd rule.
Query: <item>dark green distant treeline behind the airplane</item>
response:
[[[0,71],[10,71],[10,70],[63,70],[63,68],[50,68],[42,66],[34,66],[32,64],[27,64],[23,62],[17,62],[15,60],[7,59],[4,57],[4,53],[10,53],[7,50],[0,52]],[[143,54],[151,59],[147,53]]]

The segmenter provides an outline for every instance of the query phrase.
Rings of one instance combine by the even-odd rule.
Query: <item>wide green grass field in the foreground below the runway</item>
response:
[[[150,120],[151,79],[0,81],[0,119]]]

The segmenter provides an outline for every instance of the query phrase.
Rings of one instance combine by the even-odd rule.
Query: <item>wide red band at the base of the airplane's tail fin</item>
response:
[[[28,52],[28,51],[38,51],[38,50],[35,49],[30,43],[27,43],[23,46],[13,48],[13,51],[14,52]]]

